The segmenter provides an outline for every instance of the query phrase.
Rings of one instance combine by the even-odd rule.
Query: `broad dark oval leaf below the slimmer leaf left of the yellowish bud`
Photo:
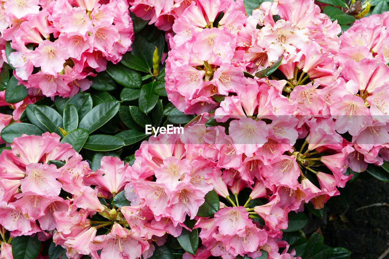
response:
[[[120,63],[115,65],[109,63],[106,71],[116,82],[124,87],[139,89],[142,86],[142,76],[140,76],[140,73]]]

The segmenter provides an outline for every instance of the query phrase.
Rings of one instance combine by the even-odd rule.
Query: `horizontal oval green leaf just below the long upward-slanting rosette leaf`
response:
[[[84,144],[85,149],[93,151],[110,151],[124,146],[124,141],[115,136],[96,134],[89,136]]]

